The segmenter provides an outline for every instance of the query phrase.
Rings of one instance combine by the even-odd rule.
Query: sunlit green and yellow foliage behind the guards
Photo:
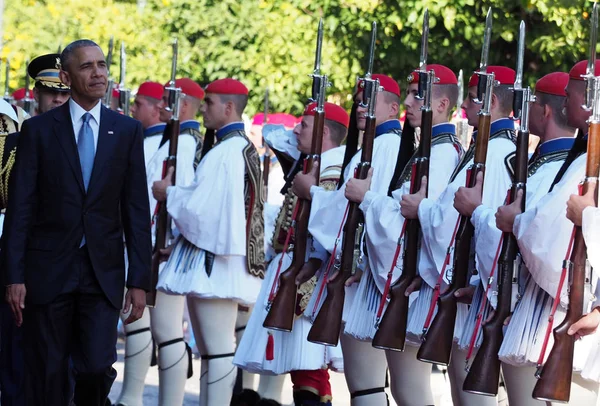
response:
[[[324,18],[322,71],[330,100],[350,104],[364,73],[372,21],[378,23],[376,72],[404,83],[418,64],[422,16],[429,8],[429,61],[469,72],[479,64],[485,13],[494,12],[490,64],[513,67],[521,19],[527,25],[525,77],[567,70],[586,57],[591,3],[584,0],[11,0],[4,13],[2,58],[11,88],[23,85],[24,64],[82,37],[115,55],[125,41],[127,82],[166,82],[173,38],[179,75],[202,84],[224,76],[250,89],[248,113],[261,109],[269,87],[273,110],[299,114],[310,89],[316,28]],[[111,69],[118,79],[118,57]]]

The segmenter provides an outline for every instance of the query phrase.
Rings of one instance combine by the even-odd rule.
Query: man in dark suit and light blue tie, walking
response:
[[[150,213],[141,124],[100,103],[106,61],[89,40],[69,44],[60,78],[71,100],[21,129],[5,220],[6,298],[25,320],[28,405],[106,402],[116,371],[117,320],[144,311]]]

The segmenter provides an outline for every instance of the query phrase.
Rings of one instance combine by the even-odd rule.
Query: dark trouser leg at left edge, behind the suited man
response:
[[[23,406],[23,328],[17,327],[10,306],[3,300],[0,303],[0,333],[0,405]]]

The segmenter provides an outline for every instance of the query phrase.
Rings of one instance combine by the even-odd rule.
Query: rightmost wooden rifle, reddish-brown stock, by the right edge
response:
[[[596,100],[596,103],[598,101]],[[588,180],[583,184],[586,194],[590,183],[598,182],[600,168],[600,123],[590,122],[585,175]],[[594,194],[594,199],[597,199]],[[598,202],[596,200],[596,206]],[[573,354],[575,336],[567,334],[569,328],[583,315],[585,297],[587,247],[581,227],[575,227],[575,239],[570,258],[569,307],[563,322],[554,329],[554,345],[541,371],[540,378],[533,389],[533,397],[539,400],[568,402],[571,393],[573,374]]]

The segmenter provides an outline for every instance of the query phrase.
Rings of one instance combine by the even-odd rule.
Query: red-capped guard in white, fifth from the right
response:
[[[378,81],[379,84],[376,100],[371,101],[376,102],[376,108],[373,112],[374,117],[371,117],[371,120],[374,118],[376,122],[372,151],[371,190],[376,193],[387,194],[396,169],[393,165],[390,165],[390,162],[397,162],[400,155],[400,161],[402,161],[400,166],[404,167],[414,152],[414,138],[406,137],[403,148],[400,148],[402,128],[398,120],[400,109],[400,86],[398,82],[382,74],[373,74],[371,79]],[[364,81],[361,81],[355,98],[356,122],[351,123],[351,126],[356,126],[355,128],[358,128],[358,130],[365,130],[367,122],[367,109],[360,104],[363,100],[365,102],[368,100],[366,95],[363,96],[363,89]],[[352,143],[352,137],[349,136],[348,138],[349,145]],[[406,145],[406,148],[404,148],[404,145]],[[293,187],[293,191],[297,196],[312,200],[309,231],[318,245],[324,247],[329,253],[333,253],[334,256],[335,252],[341,249],[341,247],[337,247],[338,242],[336,240],[339,237],[340,224],[343,225],[345,222],[345,208],[349,204],[344,195],[345,186],[347,181],[352,178],[352,174],[361,159],[361,152],[352,156],[352,150],[348,152],[349,146],[346,148],[346,157],[352,159],[348,159],[349,162],[345,160],[345,162],[348,162],[343,172],[345,182],[339,185],[337,190],[329,191],[316,186],[315,177],[312,173],[298,174]],[[398,166],[398,163],[396,163],[396,166]],[[395,184],[395,182],[393,183]],[[319,250],[317,249],[316,252],[319,252]],[[311,256],[314,255],[311,254]],[[333,276],[333,270],[329,275],[323,272],[320,277],[315,294],[312,296],[313,299],[306,311],[311,317],[315,317],[317,313],[319,296],[324,296],[320,295],[319,292],[323,291],[323,284],[331,276]],[[357,289],[357,285],[353,284],[352,280],[356,281],[357,279],[358,275],[351,277],[346,282],[344,313],[352,304]],[[337,342],[337,338],[335,341]],[[384,392],[385,354],[374,349],[370,343],[356,340],[346,334],[340,335],[340,341],[344,353],[344,374],[351,393],[352,405],[383,404],[386,402],[387,396]]]

